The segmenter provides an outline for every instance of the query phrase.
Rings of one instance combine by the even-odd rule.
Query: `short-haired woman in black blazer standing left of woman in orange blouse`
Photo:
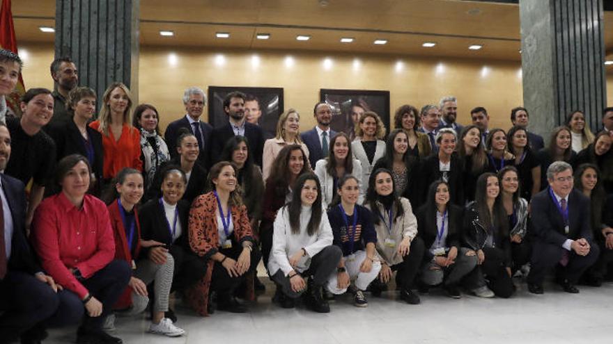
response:
[[[95,112],[96,94],[88,87],[77,87],[68,93],[66,111],[72,118],[52,124],[49,136],[56,145],[56,158],[60,161],[64,156],[81,154],[91,165],[93,178],[90,191],[100,197],[102,186],[102,134],[88,126]]]

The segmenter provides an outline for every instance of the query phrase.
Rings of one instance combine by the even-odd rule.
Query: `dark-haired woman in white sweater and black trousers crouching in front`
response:
[[[278,286],[274,300],[284,308],[293,308],[294,300],[306,289],[307,306],[318,313],[330,311],[323,286],[336,270],[342,252],[332,245],[332,229],[321,202],[317,176],[302,174],[296,180],[292,200],[279,209],[274,220],[268,272]]]

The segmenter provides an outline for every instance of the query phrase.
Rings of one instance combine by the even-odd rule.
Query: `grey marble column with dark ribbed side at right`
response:
[[[603,0],[520,0],[524,106],[548,140],[582,110],[592,131],[607,100]]]

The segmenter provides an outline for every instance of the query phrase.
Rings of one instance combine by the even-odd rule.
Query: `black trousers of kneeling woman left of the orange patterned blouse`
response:
[[[207,259],[181,245],[171,245],[169,253],[175,260],[171,292],[184,290],[204,277]]]

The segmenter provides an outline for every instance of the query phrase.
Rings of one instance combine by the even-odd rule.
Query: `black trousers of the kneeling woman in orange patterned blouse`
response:
[[[231,259],[237,260],[238,256],[242,252],[242,245],[232,240],[232,247],[228,249],[219,249],[219,252],[228,256]],[[232,295],[236,287],[245,279],[245,276],[249,272],[254,272],[258,266],[262,255],[260,250],[255,245],[251,250],[249,270],[238,277],[232,277],[228,274],[228,270],[224,268],[222,263],[213,263],[213,270],[211,274],[210,290],[215,290],[218,295]],[[205,269],[206,271],[206,269]]]

